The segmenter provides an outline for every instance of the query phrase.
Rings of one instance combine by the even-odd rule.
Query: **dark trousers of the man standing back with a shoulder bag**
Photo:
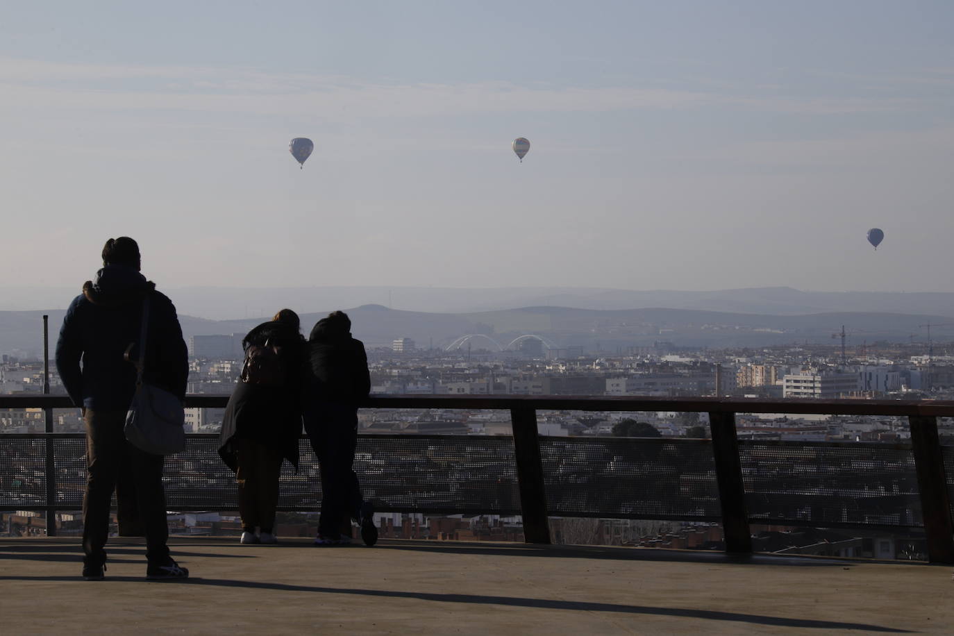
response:
[[[110,501],[118,489],[125,501],[135,499],[136,518],[146,534],[146,558],[162,564],[169,557],[166,496],[162,489],[161,455],[151,455],[126,441],[126,411],[86,409],[86,492],[83,496],[85,562],[106,561]]]

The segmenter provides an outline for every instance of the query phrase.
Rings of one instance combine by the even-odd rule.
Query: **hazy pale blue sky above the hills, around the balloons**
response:
[[[954,291],[949,0],[0,9],[0,285]]]

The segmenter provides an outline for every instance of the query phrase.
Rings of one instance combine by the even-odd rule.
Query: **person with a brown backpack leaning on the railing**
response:
[[[225,407],[218,454],[239,483],[240,542],[275,544],[281,462],[298,468],[299,461],[304,338],[298,314],[282,309],[248,332],[242,349],[245,366]],[[264,349],[274,352],[273,371],[252,357]]]

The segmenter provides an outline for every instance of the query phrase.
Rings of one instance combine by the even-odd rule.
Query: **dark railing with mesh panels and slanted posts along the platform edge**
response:
[[[226,395],[191,395],[186,405],[221,407]],[[373,396],[363,408],[508,411],[511,435],[360,435],[355,471],[381,512],[519,515],[530,544],[554,541],[552,517],[721,523],[724,550],[752,553],[754,525],[923,532],[911,553],[954,564],[954,446],[938,418],[954,402],[914,400],[749,400],[738,398]],[[86,470],[84,436],[52,428],[65,396],[0,396],[0,408],[41,408],[46,432],[0,436],[0,509],[78,510]],[[705,412],[702,438],[548,437],[538,413]],[[862,414],[902,417],[909,441],[739,440],[737,413]],[[235,510],[232,473],[218,459],[218,435],[189,436],[166,461],[169,510]],[[280,510],[314,511],[318,466],[301,440],[301,466],[282,472]],[[48,536],[57,525],[48,524]],[[120,534],[131,535],[131,532]],[[406,536],[401,538],[408,538]],[[681,546],[680,546],[681,547]],[[879,556],[861,545],[861,553]],[[923,554],[923,557],[920,556]],[[831,556],[836,556],[832,554]],[[909,557],[910,558],[910,557]]]

